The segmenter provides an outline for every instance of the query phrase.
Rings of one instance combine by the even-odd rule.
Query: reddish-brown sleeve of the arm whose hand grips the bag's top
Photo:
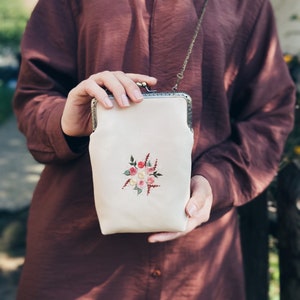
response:
[[[25,30],[14,109],[34,158],[76,158],[60,127],[66,96],[76,84],[76,26],[70,1],[39,1]],[[48,22],[44,22],[47,19]]]

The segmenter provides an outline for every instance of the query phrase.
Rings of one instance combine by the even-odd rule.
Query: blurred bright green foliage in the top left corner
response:
[[[0,48],[18,49],[28,17],[24,1],[0,1]]]

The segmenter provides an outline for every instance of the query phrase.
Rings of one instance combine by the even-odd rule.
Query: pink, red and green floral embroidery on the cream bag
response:
[[[137,191],[137,195],[145,191],[148,196],[152,188],[160,186],[156,184],[156,180],[162,176],[162,174],[157,171],[157,159],[154,165],[152,165],[149,157],[150,153],[146,155],[144,161],[139,162],[136,162],[133,156],[130,157],[129,165],[131,167],[123,173],[128,178],[122,189],[128,186]]]

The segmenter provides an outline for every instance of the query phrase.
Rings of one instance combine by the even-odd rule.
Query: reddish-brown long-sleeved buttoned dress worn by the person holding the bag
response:
[[[294,86],[266,0],[210,0],[180,89],[193,98],[193,175],[213,189],[211,219],[177,240],[103,236],[88,137],[65,137],[68,92],[104,70],[143,73],[169,91],[203,0],[41,0],[22,43],[15,112],[45,169],[32,199],[19,300],[242,300],[236,206],[276,173]],[[120,150],[121,151],[121,150]]]

